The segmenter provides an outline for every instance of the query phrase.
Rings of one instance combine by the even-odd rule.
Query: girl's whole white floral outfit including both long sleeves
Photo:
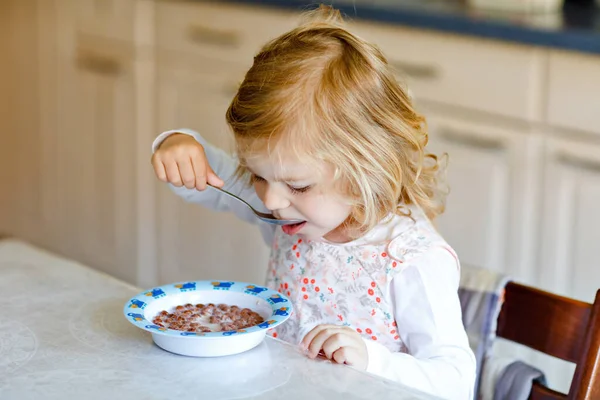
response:
[[[164,132],[154,141],[153,151],[176,132],[203,145],[224,189],[268,211],[252,187],[233,179],[235,157],[197,132]],[[473,398],[475,357],[462,325],[458,259],[418,209],[411,210],[413,219],[391,216],[356,241],[333,244],[289,237],[217,191],[171,188],[187,201],[233,212],[258,225],[265,242],[274,246],[267,284],[286,292],[295,310],[275,333],[281,339],[298,343],[318,324],[346,325],[363,337],[367,372],[442,398]],[[351,259],[340,265],[340,260]],[[347,277],[351,284],[333,282],[340,268],[352,274],[352,279]]]

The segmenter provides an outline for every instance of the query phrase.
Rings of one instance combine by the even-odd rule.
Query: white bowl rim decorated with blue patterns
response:
[[[227,293],[231,293],[235,297],[240,295],[248,295],[254,296],[257,299],[257,304],[263,300],[263,304],[268,304],[270,307],[270,316],[265,318],[265,322],[245,328],[239,329],[235,331],[221,331],[221,332],[182,332],[174,329],[163,328],[158,325],[155,325],[152,322],[154,315],[146,316],[145,310],[148,307],[152,307],[153,303],[163,302],[166,298],[170,296],[180,297],[182,294],[187,296],[198,294],[202,296],[202,294],[210,294],[210,292],[214,291],[226,291]],[[209,293],[207,293],[209,292]],[[221,292],[222,293],[222,292]],[[222,293],[225,294],[225,293]],[[234,297],[232,296],[232,297]],[[227,296],[223,297],[224,299]],[[188,301],[186,301],[188,302]],[[227,303],[227,300],[223,300],[223,303]],[[261,302],[262,303],[262,302]],[[155,304],[157,305],[157,304]],[[229,304],[234,305],[234,304]],[[237,304],[235,304],[237,305]],[[152,307],[154,308],[154,307]],[[248,307],[253,309],[252,307]],[[264,307],[263,307],[264,308]],[[254,310],[254,309],[253,309]],[[292,313],[292,303],[290,300],[282,295],[279,292],[271,290],[266,287],[257,286],[252,283],[247,282],[230,282],[230,281],[191,281],[191,282],[177,282],[171,283],[164,286],[155,287],[149,290],[145,290],[136,296],[129,299],[125,306],[123,307],[123,314],[125,318],[133,325],[137,326],[140,329],[146,330],[148,332],[152,332],[153,334],[166,335],[166,336],[175,336],[175,337],[206,337],[206,338],[216,338],[223,336],[232,336],[232,335],[244,335],[252,332],[257,332],[261,330],[267,330],[280,325],[285,322],[286,319]],[[158,310],[162,311],[162,309]],[[254,310],[256,311],[256,310]],[[264,315],[263,315],[264,317]],[[147,319],[149,318],[149,319]]]

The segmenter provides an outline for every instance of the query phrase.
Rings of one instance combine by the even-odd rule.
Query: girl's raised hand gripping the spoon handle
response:
[[[208,165],[204,147],[192,136],[175,133],[166,138],[152,155],[158,179],[188,189],[206,189],[206,184],[221,187],[223,181]]]

